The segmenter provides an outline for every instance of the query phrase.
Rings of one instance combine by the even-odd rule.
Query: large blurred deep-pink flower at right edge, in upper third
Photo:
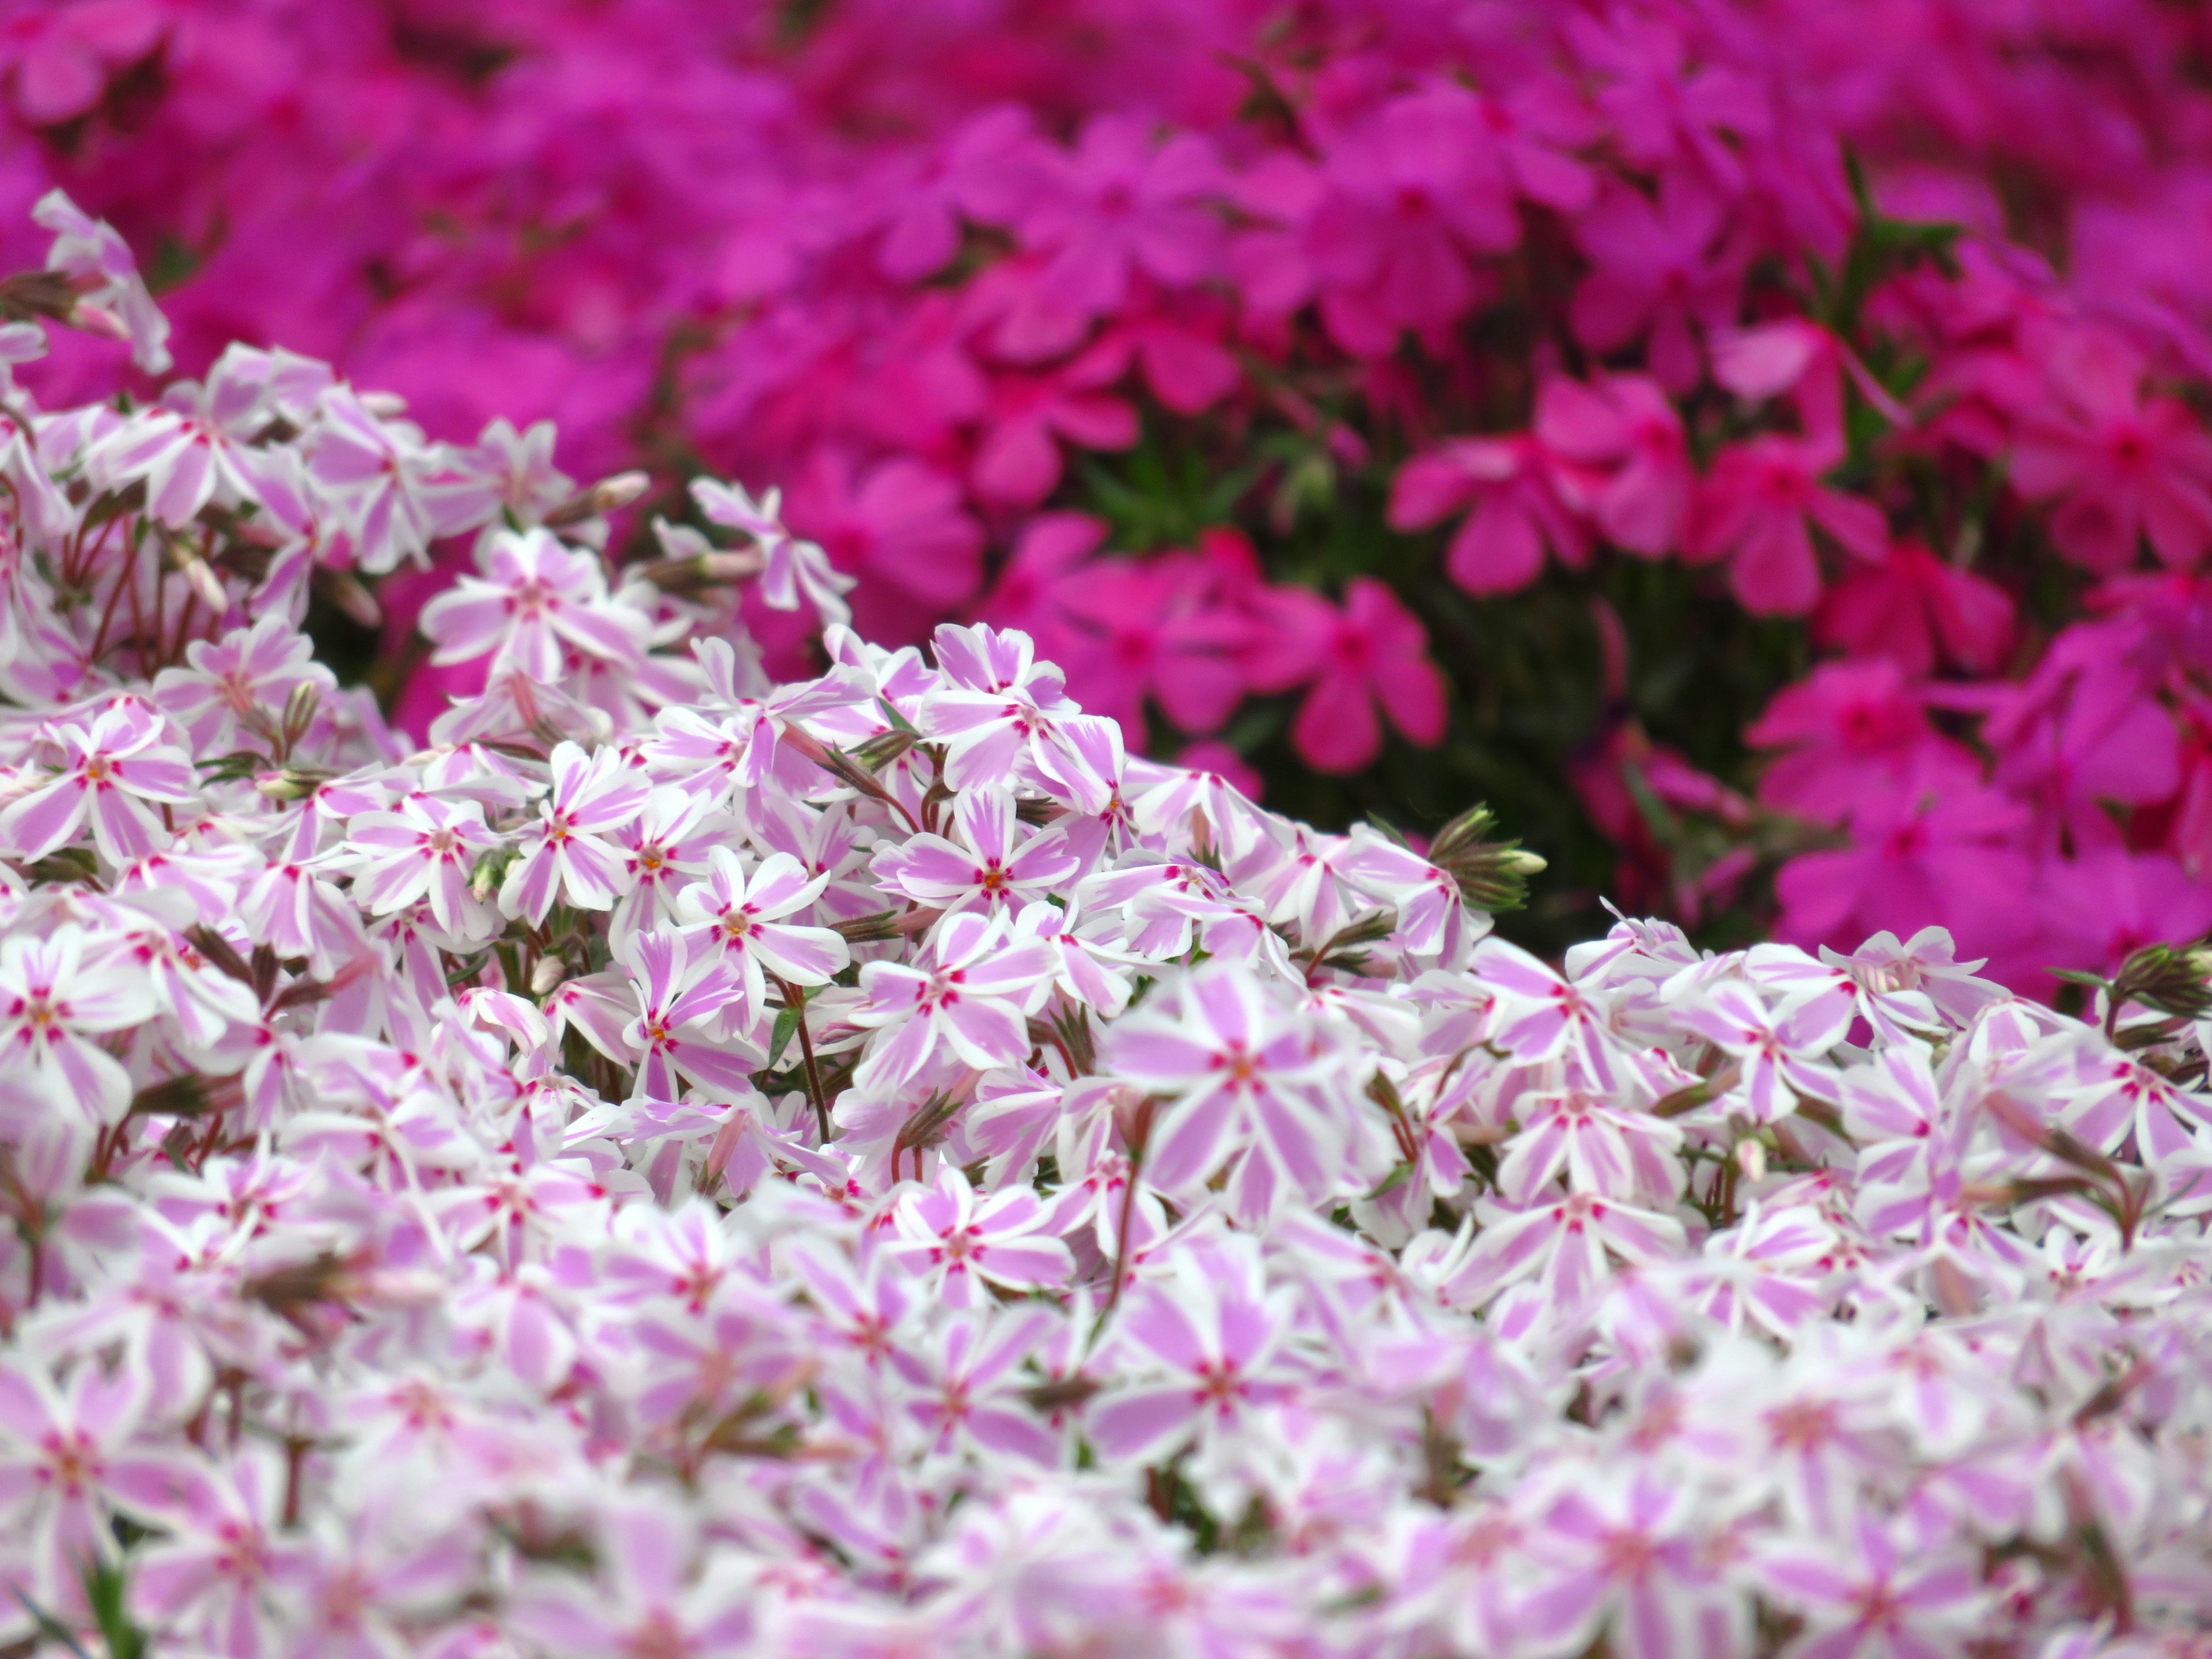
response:
[[[2177,571],[2212,546],[2212,438],[2179,398],[2146,398],[2141,365],[2099,336],[2044,361],[2053,407],[2037,407],[2013,447],[2013,484],[2059,500],[2051,540],[2090,571],[2124,571],[2150,538]]]

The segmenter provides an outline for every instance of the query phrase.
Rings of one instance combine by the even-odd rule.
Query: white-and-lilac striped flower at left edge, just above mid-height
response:
[[[111,865],[128,865],[170,843],[170,803],[192,799],[190,757],[166,741],[166,726],[137,697],[117,697],[91,719],[44,728],[58,752],[53,776],[33,781],[0,810],[0,836],[18,858],[44,858],[91,825]]]

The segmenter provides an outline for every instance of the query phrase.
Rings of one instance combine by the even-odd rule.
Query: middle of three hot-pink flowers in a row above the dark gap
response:
[[[1646,557],[1674,551],[1690,511],[1690,445],[1657,380],[1553,376],[1537,392],[1535,436],[1553,460],[1557,493],[1608,542]]]

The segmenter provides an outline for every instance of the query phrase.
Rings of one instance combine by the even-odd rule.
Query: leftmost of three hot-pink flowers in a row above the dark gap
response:
[[[1469,593],[1513,593],[1544,573],[1546,546],[1571,571],[1590,562],[1590,533],[1562,498],[1562,482],[1537,438],[1453,438],[1398,469],[1389,522],[1420,531],[1473,509],[1444,568]]]

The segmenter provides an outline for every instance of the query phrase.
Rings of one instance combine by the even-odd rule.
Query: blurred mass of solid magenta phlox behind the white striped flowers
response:
[[[60,184],[179,372],[557,420],[637,560],[783,484],[876,639],[1026,628],[1329,827],[1486,801],[1535,949],[2051,993],[2212,925],[2208,77],[2166,0],[13,0],[0,254]],[[312,617],[416,730],[462,560]]]

